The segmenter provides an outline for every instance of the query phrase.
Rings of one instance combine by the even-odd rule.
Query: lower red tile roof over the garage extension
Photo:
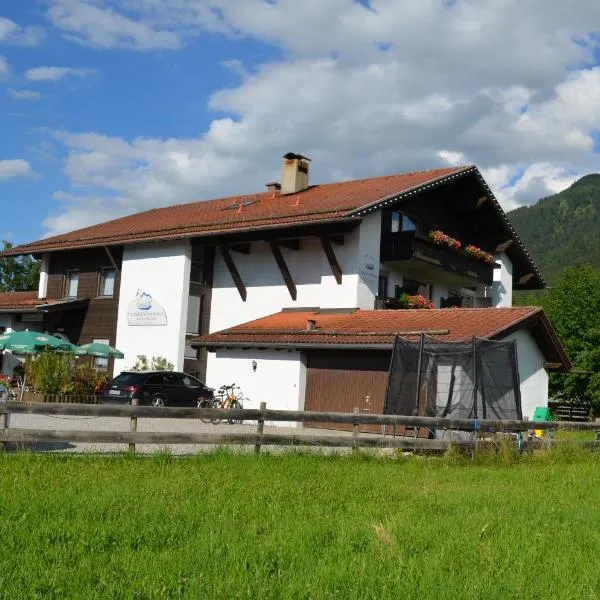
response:
[[[307,329],[315,321],[313,330]],[[514,308],[443,308],[432,310],[356,310],[350,314],[282,311],[256,321],[192,340],[194,346],[391,348],[396,335],[416,340],[420,332],[444,341],[472,337],[497,339],[529,328],[548,362],[569,369],[569,360],[543,310]]]

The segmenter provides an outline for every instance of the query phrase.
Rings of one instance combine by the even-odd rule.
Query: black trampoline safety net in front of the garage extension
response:
[[[521,420],[515,341],[396,336],[385,414]]]

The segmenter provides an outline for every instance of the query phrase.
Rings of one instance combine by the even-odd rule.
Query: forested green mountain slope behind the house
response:
[[[566,190],[508,213],[546,282],[566,266],[600,270],[600,174],[586,175]]]

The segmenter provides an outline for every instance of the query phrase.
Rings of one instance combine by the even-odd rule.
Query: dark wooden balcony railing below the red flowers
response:
[[[415,231],[402,231],[382,237],[381,260],[419,261],[488,285],[494,280],[494,268],[499,266],[485,263],[461,250],[434,244]]]

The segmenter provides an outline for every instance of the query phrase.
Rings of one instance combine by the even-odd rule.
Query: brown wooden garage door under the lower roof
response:
[[[387,387],[390,352],[322,352],[307,359],[305,410],[381,414]],[[309,427],[352,429],[343,423],[307,423]],[[381,432],[362,426],[361,431]]]

